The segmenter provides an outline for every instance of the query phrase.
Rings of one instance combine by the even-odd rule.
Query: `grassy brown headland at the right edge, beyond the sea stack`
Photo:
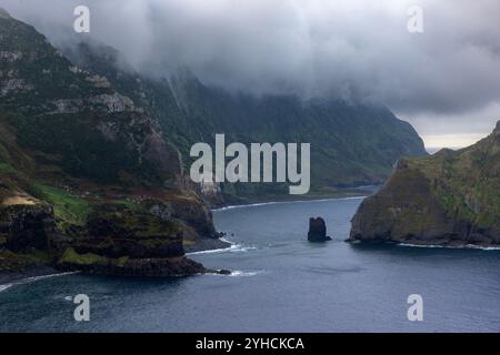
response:
[[[499,246],[500,122],[469,148],[399,161],[361,203],[350,241]]]

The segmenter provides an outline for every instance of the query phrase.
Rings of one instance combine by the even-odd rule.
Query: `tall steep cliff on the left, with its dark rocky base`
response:
[[[63,270],[202,272],[183,244],[216,236],[211,214],[154,112],[4,12],[0,37],[0,264],[38,250]]]

